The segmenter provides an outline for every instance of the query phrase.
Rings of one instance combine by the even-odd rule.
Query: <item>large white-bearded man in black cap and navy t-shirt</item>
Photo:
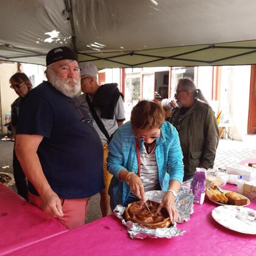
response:
[[[74,229],[84,225],[90,197],[104,188],[102,143],[76,99],[76,54],[66,47],[49,51],[46,77],[20,108],[15,150],[30,202]]]

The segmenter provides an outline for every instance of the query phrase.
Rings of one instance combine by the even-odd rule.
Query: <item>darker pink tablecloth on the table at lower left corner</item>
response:
[[[67,231],[0,183],[0,255]]]

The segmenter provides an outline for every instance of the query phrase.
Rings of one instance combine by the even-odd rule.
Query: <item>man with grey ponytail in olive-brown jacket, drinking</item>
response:
[[[213,168],[219,130],[212,108],[191,79],[179,80],[175,98],[170,123],[179,132],[185,181],[194,177],[197,167]]]

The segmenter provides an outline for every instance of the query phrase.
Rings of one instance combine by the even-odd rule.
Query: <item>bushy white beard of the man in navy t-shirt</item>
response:
[[[54,72],[51,69],[49,69],[48,80],[56,90],[60,91],[60,93],[64,94],[69,98],[76,97],[81,90],[80,76],[78,80],[72,78],[60,79],[55,76]],[[69,82],[73,82],[74,87],[71,87],[68,84]]]

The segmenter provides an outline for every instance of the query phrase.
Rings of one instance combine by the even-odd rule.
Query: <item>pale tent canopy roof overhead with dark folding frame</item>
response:
[[[255,0],[0,0],[0,60],[73,48],[98,68],[256,63]]]

